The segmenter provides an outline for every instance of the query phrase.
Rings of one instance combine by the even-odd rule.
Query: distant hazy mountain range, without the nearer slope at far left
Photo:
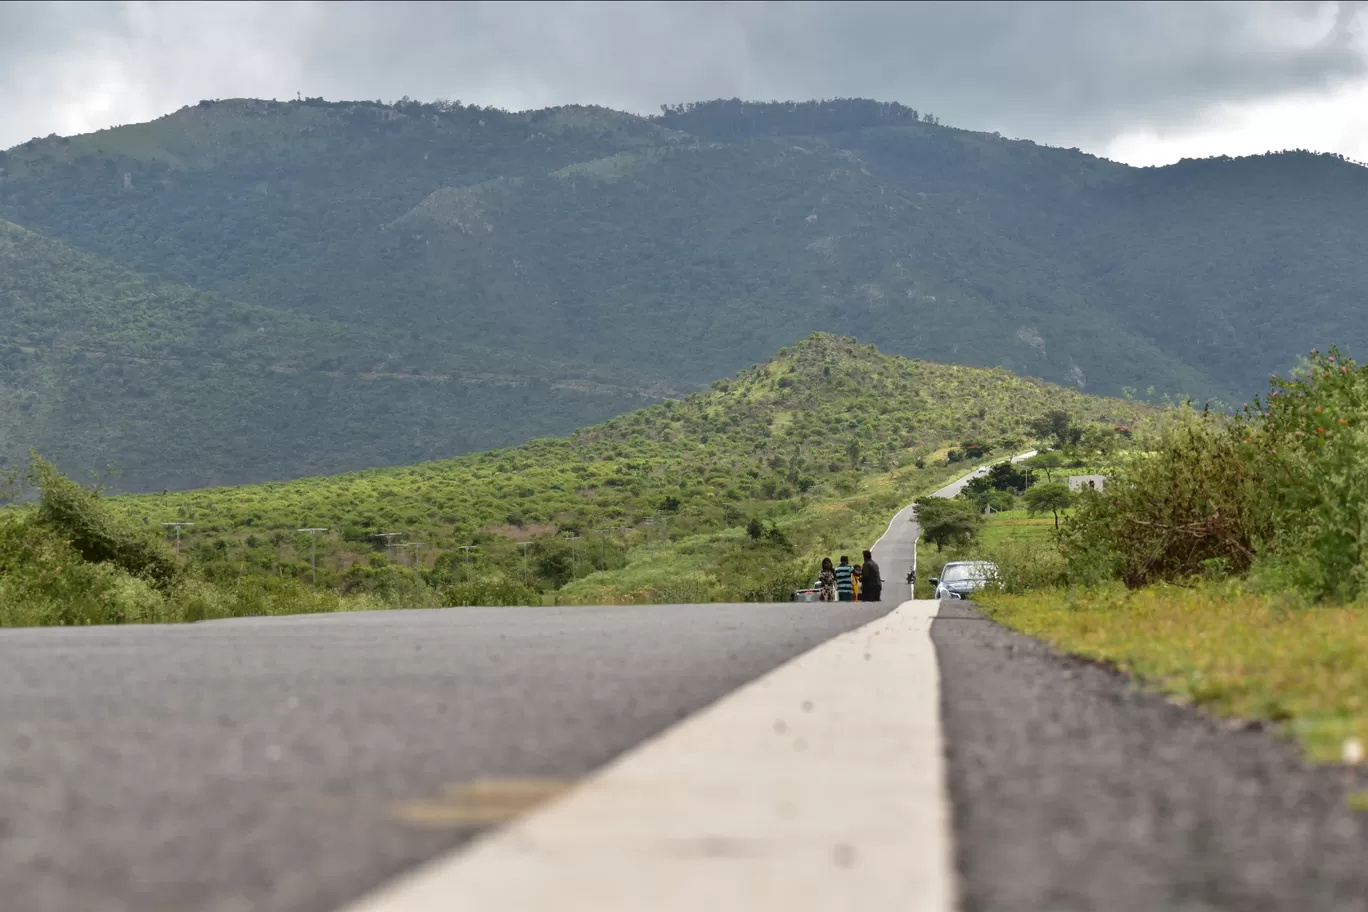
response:
[[[1086,391],[1244,398],[1300,351],[1368,342],[1368,171],[1330,156],[1137,170],[859,100],[653,119],[237,100],[0,168],[0,217],[514,377],[583,356],[617,386],[696,388],[834,331]],[[506,439],[603,414],[528,395]]]

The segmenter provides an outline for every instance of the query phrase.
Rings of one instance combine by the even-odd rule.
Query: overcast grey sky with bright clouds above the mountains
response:
[[[0,148],[200,98],[862,96],[1134,164],[1368,160],[1368,3],[0,3]]]

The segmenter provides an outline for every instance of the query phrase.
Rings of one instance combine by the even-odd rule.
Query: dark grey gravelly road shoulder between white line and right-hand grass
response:
[[[964,912],[1368,912],[1368,775],[973,604],[932,625]]]

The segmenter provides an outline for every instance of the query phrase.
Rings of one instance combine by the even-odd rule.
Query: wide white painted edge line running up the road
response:
[[[936,611],[829,640],[346,912],[949,912]]]

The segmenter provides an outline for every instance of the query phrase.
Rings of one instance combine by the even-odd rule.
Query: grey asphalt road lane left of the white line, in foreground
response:
[[[415,826],[409,804],[482,777],[577,778],[889,607],[4,632],[0,908],[334,909],[494,822]]]

